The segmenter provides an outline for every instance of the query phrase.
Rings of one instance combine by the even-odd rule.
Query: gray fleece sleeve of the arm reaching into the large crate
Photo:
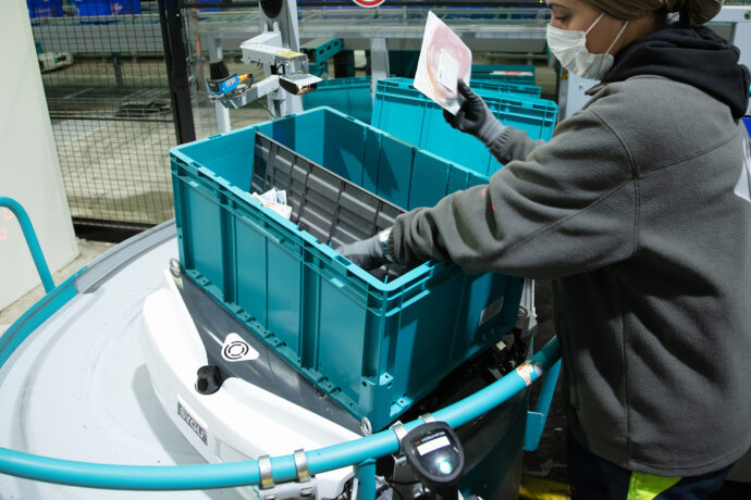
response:
[[[507,163],[488,185],[396,218],[394,258],[454,261],[470,273],[557,278],[629,257],[637,186],[628,151],[592,111]]]

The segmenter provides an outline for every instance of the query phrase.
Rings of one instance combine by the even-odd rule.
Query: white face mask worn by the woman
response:
[[[610,51],[628,26],[627,21],[605,53],[590,53],[587,50],[587,35],[603,15],[605,14],[600,14],[600,17],[592,23],[587,32],[571,32],[547,25],[547,47],[550,47],[553,55],[561,61],[562,66],[582,78],[602,79],[605,76],[605,73],[613,67],[613,55]]]

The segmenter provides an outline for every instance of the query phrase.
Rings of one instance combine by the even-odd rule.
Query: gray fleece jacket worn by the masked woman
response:
[[[579,441],[642,473],[719,470],[751,446],[742,124],[665,77],[590,92],[546,143],[507,128],[489,185],[399,216],[394,257],[554,279]]]

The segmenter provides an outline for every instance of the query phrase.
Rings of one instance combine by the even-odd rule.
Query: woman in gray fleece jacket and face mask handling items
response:
[[[751,446],[749,72],[719,1],[549,7],[587,105],[531,141],[459,83],[446,120],[505,166],[341,252],[553,279],[574,497],[706,498]]]

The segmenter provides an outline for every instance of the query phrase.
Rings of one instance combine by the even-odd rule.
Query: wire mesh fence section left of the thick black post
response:
[[[172,217],[176,140],[157,2],[63,0],[41,15],[33,7],[74,222],[146,227]]]

